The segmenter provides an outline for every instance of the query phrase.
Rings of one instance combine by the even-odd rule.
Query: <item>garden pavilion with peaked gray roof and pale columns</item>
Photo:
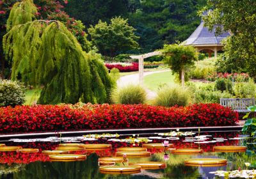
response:
[[[191,36],[184,41],[184,45],[192,45],[197,52],[205,51],[211,58],[211,53],[214,52],[214,57],[217,57],[217,52],[221,51],[223,44],[221,40],[230,36],[230,33],[223,32],[221,35],[215,35],[215,29],[212,31],[208,27],[204,27],[204,21],[202,20],[200,25],[195,29]]]

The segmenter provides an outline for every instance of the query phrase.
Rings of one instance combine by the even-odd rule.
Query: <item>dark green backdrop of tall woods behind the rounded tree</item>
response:
[[[141,49],[129,51],[135,54],[186,40],[200,24],[196,12],[205,4],[205,0],[72,0],[65,4],[65,12],[86,26],[94,26],[99,20],[109,22],[112,17],[128,18],[136,36],[140,36]]]

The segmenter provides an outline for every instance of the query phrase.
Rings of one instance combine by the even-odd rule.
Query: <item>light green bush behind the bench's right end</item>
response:
[[[248,82],[237,82],[234,87],[234,93],[237,98],[256,97],[256,86],[252,79]]]

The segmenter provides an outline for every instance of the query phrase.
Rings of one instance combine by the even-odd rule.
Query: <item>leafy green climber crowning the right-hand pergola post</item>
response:
[[[184,86],[184,76],[186,68],[194,65],[197,60],[195,48],[179,44],[164,45],[164,63],[168,64],[173,74],[179,74],[179,79]]]

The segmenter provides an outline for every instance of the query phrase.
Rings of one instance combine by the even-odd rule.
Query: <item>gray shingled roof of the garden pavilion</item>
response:
[[[204,22],[195,29],[193,34],[184,41],[184,45],[220,45],[221,40],[230,36],[230,33],[223,32],[221,35],[216,36],[214,29],[209,31],[208,27],[204,27]]]

